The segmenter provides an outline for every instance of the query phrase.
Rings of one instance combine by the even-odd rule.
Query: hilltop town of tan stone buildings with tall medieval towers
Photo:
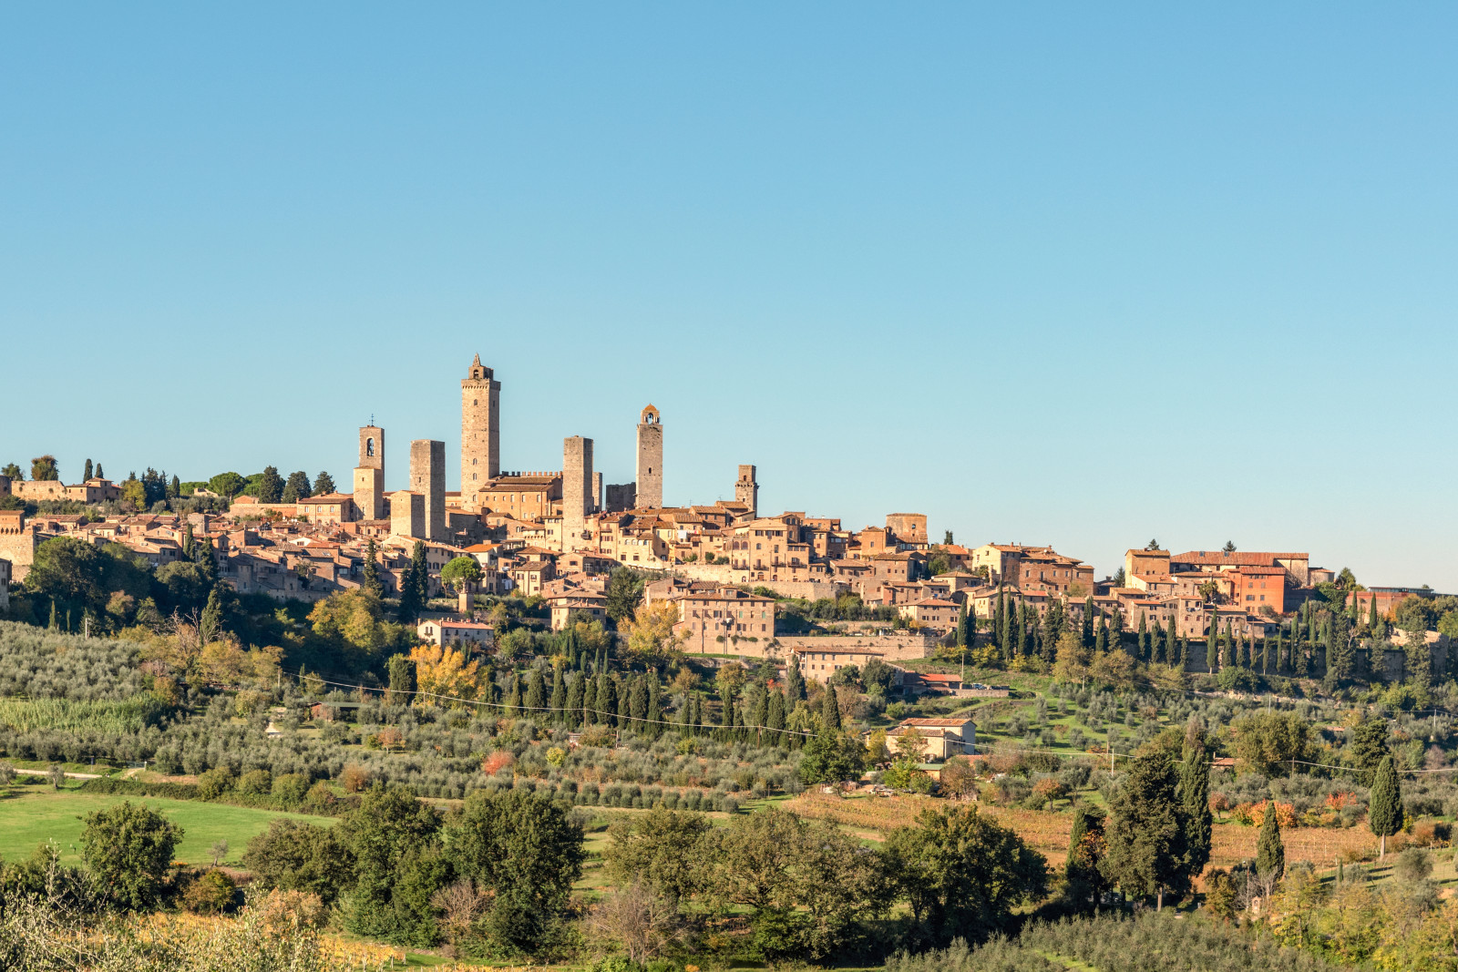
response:
[[[538,599],[550,609],[551,630],[561,631],[573,618],[602,621],[611,573],[630,567],[653,579],[646,602],[677,608],[677,641],[704,654],[787,657],[814,644],[819,651],[841,648],[843,663],[868,651],[900,662],[932,654],[939,643],[958,638],[959,625],[965,643],[964,615],[974,625],[994,622],[1003,641],[1003,614],[1016,611],[1025,628],[1038,631],[1054,611],[1060,627],[1112,625],[1114,640],[1137,635],[1139,657],[1181,669],[1216,670],[1206,650],[1198,657],[1188,650],[1190,640],[1209,643],[1213,632],[1232,646],[1260,643],[1258,656],[1271,644],[1273,673],[1325,673],[1331,651],[1352,670],[1375,666],[1401,679],[1408,643],[1419,638],[1432,670],[1446,670],[1449,635],[1429,630],[1443,612],[1429,608],[1432,624],[1416,632],[1401,627],[1413,611],[1398,616],[1404,602],[1439,603],[1438,592],[1362,586],[1350,571],[1314,567],[1306,552],[1233,545],[1178,552],[1150,542],[1130,549],[1112,576],[1095,579],[1089,564],[1050,545],[967,546],[949,532],[933,544],[919,513],[889,513],[884,525],[859,530],[821,512],[767,514],[752,463],[739,465],[733,500],[665,506],[665,423],[653,405],[639,415],[636,479],[604,484],[593,469],[593,442],[582,436],[563,440],[561,469],[503,471],[500,396],[502,383],[477,356],[461,380],[456,490],[446,488],[440,440],[410,442],[410,488],[386,490],[391,453],[385,428],[373,424],[359,430],[348,493],[338,491],[330,474],[311,482],[300,471],[286,481],[271,466],[251,478],[222,474],[185,485],[149,471],[141,481],[133,475],[118,484],[99,475],[99,466],[92,475],[87,459],[83,481],[66,485],[50,456],[32,463],[31,479],[12,463],[9,475],[0,475],[0,498],[9,500],[0,510],[0,600],[10,583],[25,580],[41,544],[76,536],[120,544],[153,568],[207,549],[216,576],[239,595],[277,600],[318,602],[357,590],[366,574],[378,577],[386,596],[399,596],[413,560],[421,560],[424,580],[417,583],[424,599],[455,593],[458,600],[461,616],[445,622],[451,627],[443,637],[478,643],[491,635],[472,608],[475,596]],[[442,571],[458,557],[472,558],[480,570],[452,587]],[[373,570],[366,568],[370,558]],[[806,625],[783,611],[786,600],[847,595],[865,609],[885,611],[828,635],[816,628],[814,643],[806,641]],[[1311,606],[1324,616],[1349,616],[1349,630],[1340,632],[1347,644],[1333,650],[1336,635],[1324,628],[1292,651],[1292,641],[1301,643],[1295,619],[1309,627]],[[1372,624],[1378,619],[1381,631]],[[1029,646],[1022,654],[1051,663],[1054,651],[1053,644]],[[1252,648],[1245,651],[1251,657]],[[1016,657],[1019,646],[1005,654]]]

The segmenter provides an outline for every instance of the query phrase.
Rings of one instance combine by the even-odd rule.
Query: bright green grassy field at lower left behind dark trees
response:
[[[302,813],[274,813],[223,803],[200,800],[165,800],[160,797],[125,797],[112,794],[76,793],[50,787],[10,787],[0,796],[0,857],[20,860],[29,857],[36,845],[52,839],[61,845],[61,857],[69,864],[80,861],[82,820],[92,810],[108,807],[122,800],[144,803],[182,828],[182,842],[176,860],[188,864],[211,864],[208,848],[214,841],[227,841],[227,861],[238,863],[249,838],[268,829],[268,822],[278,816],[308,820],[321,826],[332,826],[334,818],[308,816]]]

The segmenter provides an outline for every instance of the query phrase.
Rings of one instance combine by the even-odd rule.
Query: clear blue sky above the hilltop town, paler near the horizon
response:
[[[1309,549],[1458,590],[1452,4],[0,9],[0,462]]]

